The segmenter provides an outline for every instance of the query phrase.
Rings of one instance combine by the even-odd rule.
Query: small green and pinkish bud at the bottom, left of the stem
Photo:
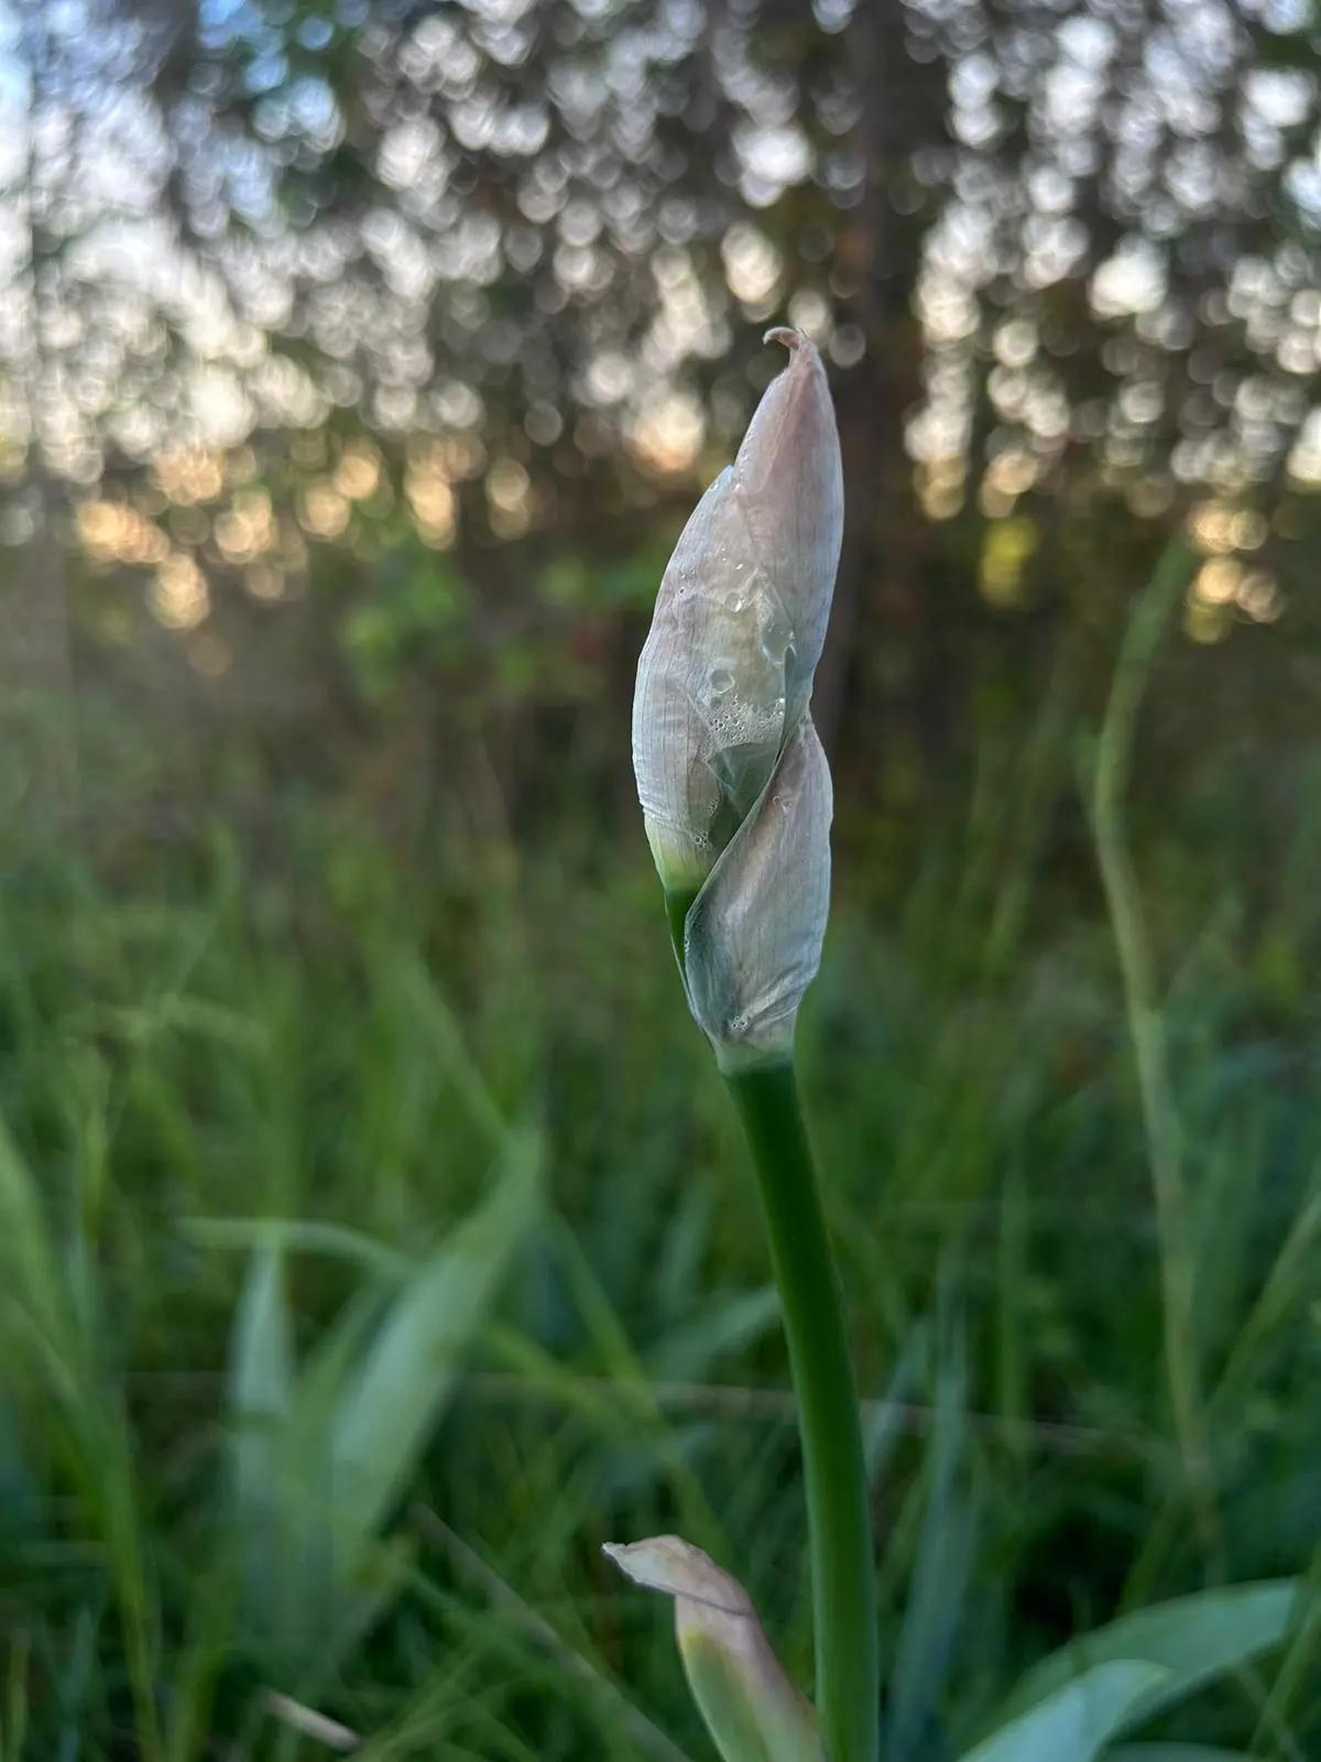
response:
[[[771,1651],[743,1586],[678,1536],[606,1544],[636,1584],[675,1598],[675,1635],[724,1762],[823,1762],[808,1702]]]

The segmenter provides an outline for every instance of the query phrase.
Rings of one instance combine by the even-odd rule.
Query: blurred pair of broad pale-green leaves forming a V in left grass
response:
[[[359,1290],[301,1369],[284,1249],[262,1232],[229,1353],[229,1521],[243,1632],[285,1679],[324,1681],[400,1595],[410,1551],[382,1531],[534,1225],[539,1163],[537,1138],[511,1133],[484,1207],[419,1265]]]

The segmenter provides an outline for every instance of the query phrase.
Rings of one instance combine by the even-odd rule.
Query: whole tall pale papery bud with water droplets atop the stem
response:
[[[807,710],[844,478],[821,356],[770,337],[789,365],[680,536],[632,710],[689,1003],[726,1068],[787,1054],[830,902],[830,770]]]

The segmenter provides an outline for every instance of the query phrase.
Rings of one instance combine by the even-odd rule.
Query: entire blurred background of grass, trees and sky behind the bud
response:
[[[706,1757],[599,1558],[666,1529],[807,1679],[629,766],[773,322],[888,1753],[1314,1570],[1319,70],[1307,0],[0,0],[5,1762]],[[1317,1644],[1166,1736],[1316,1755]]]

